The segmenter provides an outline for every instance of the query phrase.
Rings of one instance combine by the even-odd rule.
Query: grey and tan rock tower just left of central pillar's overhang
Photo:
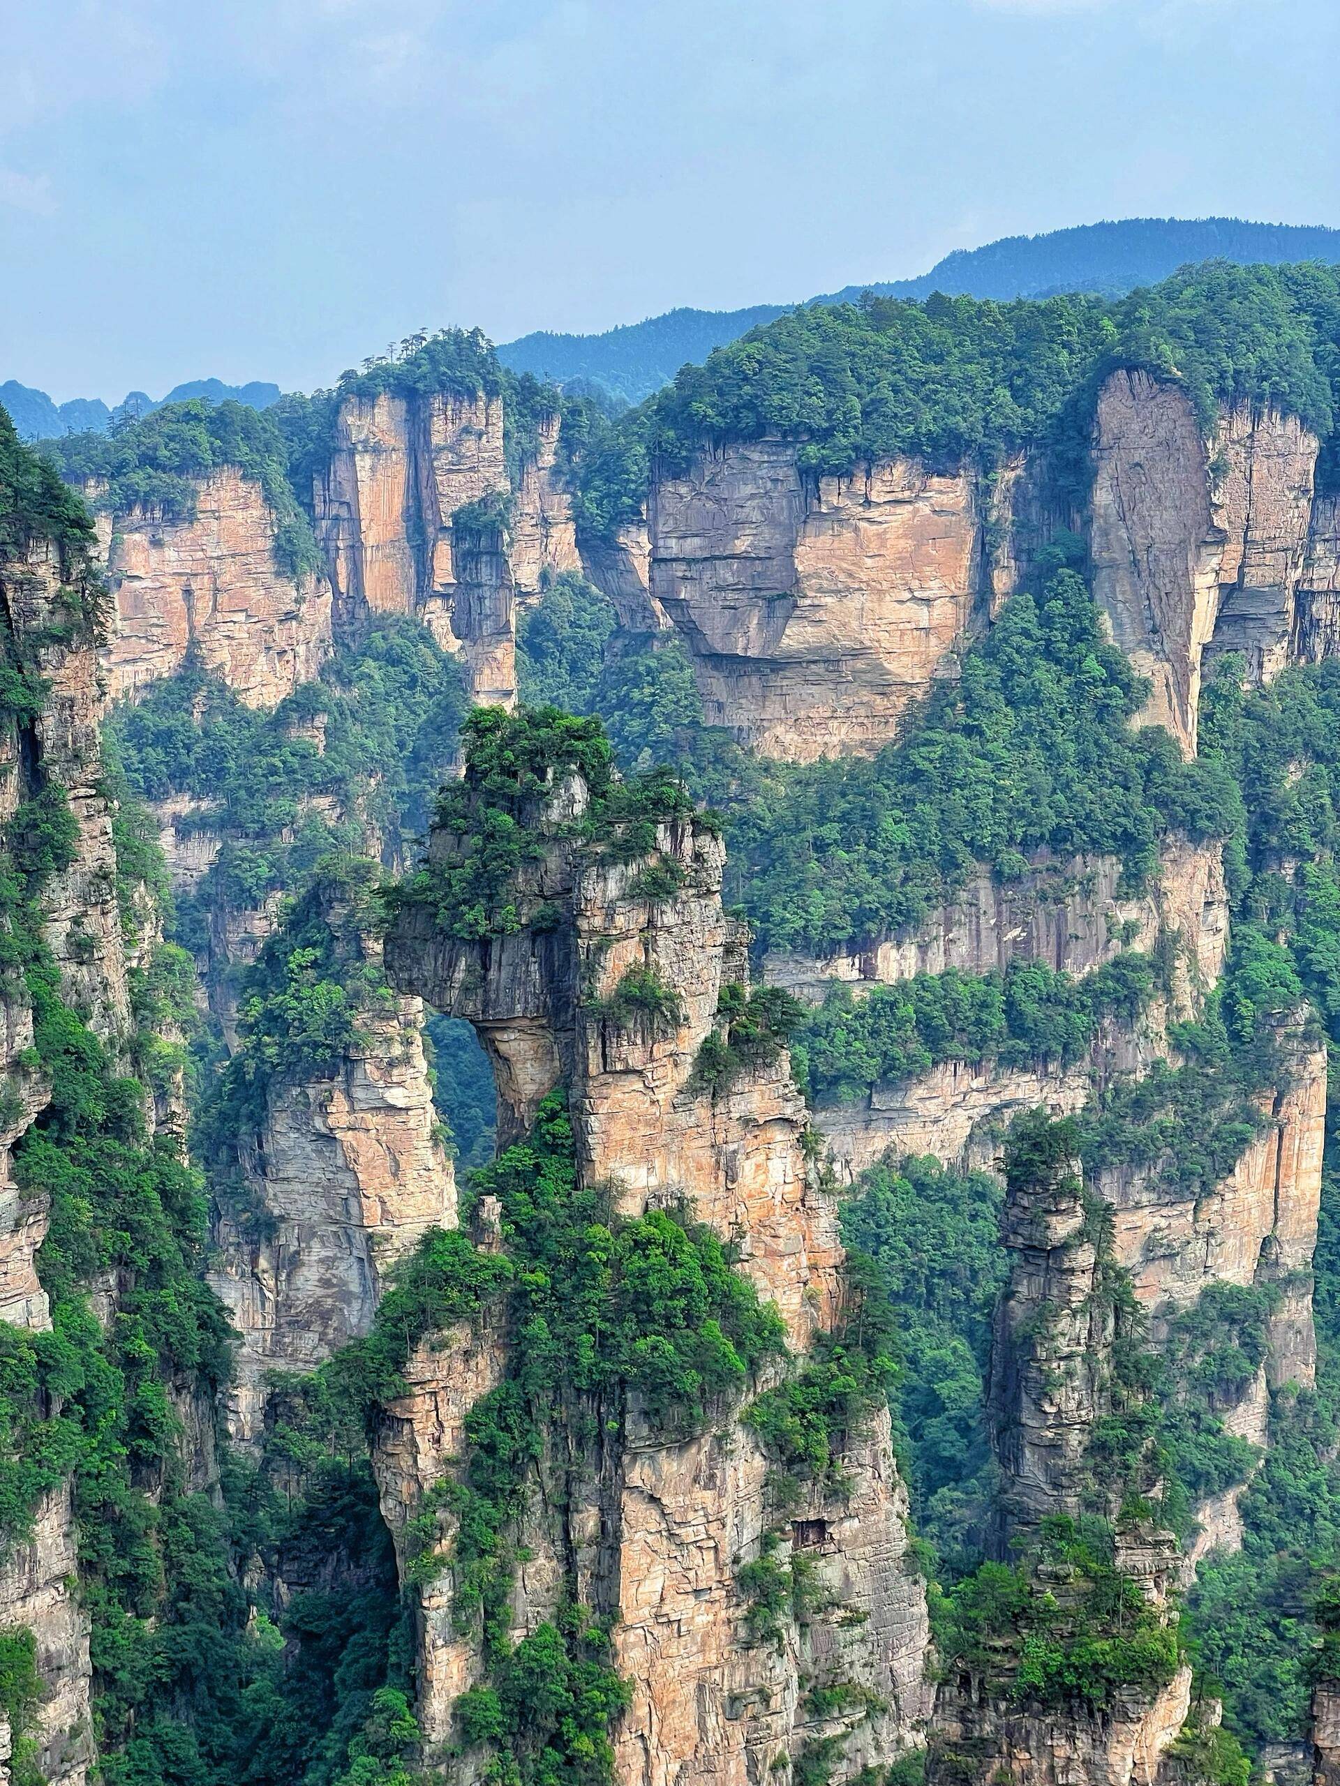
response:
[[[293,922],[314,916],[348,977],[375,979],[381,945],[354,929],[345,891],[318,882]],[[282,970],[306,934],[277,932],[266,961]],[[352,1023],[338,1056],[266,1077],[230,1138],[247,1195],[216,1213],[209,1284],[241,1336],[225,1402],[236,1443],[261,1438],[272,1372],[314,1370],[366,1334],[395,1261],[456,1225],[418,998],[373,991]],[[245,1056],[247,1041],[234,1073]]]

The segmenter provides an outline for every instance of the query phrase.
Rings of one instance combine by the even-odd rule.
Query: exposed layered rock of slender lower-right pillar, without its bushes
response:
[[[1095,1468],[1090,1456],[1097,1423],[1115,1411],[1113,1347],[1126,1318],[1106,1282],[1113,1261],[1101,1206],[1058,1138],[1034,1125],[1008,1170],[1002,1239],[1011,1273],[995,1316],[988,1391],[1002,1473],[995,1540],[1001,1556],[1024,1550],[1031,1591],[1049,1597],[1063,1632],[1077,1570],[1045,1547],[1033,1552],[1031,1540],[1045,1520],[1104,1511],[1115,1520],[1117,1568],[1168,1622],[1176,1540],[1149,1522],[1129,1523],[1120,1504],[1133,1484]],[[1017,1634],[999,1634],[1002,1666],[1017,1645]],[[931,1736],[927,1777],[936,1786],[986,1786],[1006,1775],[1020,1786],[1152,1786],[1186,1722],[1192,1670],[1177,1665],[1158,1688],[1117,1686],[1102,1706],[1079,1697],[1049,1706],[1020,1688],[951,1665]]]

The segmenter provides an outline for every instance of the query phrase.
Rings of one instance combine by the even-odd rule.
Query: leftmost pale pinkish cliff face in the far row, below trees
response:
[[[252,707],[316,675],[331,652],[331,588],[277,563],[277,530],[264,489],[236,466],[195,480],[189,516],[132,507],[98,518],[113,698],[172,675],[188,650]]]

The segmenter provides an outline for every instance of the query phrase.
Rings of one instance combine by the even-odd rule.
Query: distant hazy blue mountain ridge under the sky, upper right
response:
[[[808,298],[849,304],[863,291],[890,298],[929,298],[933,291],[972,298],[1045,298],[1058,291],[1120,296],[1167,279],[1186,261],[1340,263],[1340,229],[1295,223],[1247,223],[1240,218],[1126,218],[1081,223],[1047,236],[1006,236],[981,248],[956,248],[929,273],[892,282],[868,280]],[[513,371],[568,384],[584,379],[631,404],[668,384],[681,366],[700,363],[715,346],[770,323],[791,304],[743,311],[677,309],[604,334],[529,334],[498,348]]]

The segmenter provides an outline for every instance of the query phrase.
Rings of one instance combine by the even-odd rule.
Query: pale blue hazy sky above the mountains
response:
[[[1340,225],[1340,0],[0,0],[0,379],[57,400]]]

